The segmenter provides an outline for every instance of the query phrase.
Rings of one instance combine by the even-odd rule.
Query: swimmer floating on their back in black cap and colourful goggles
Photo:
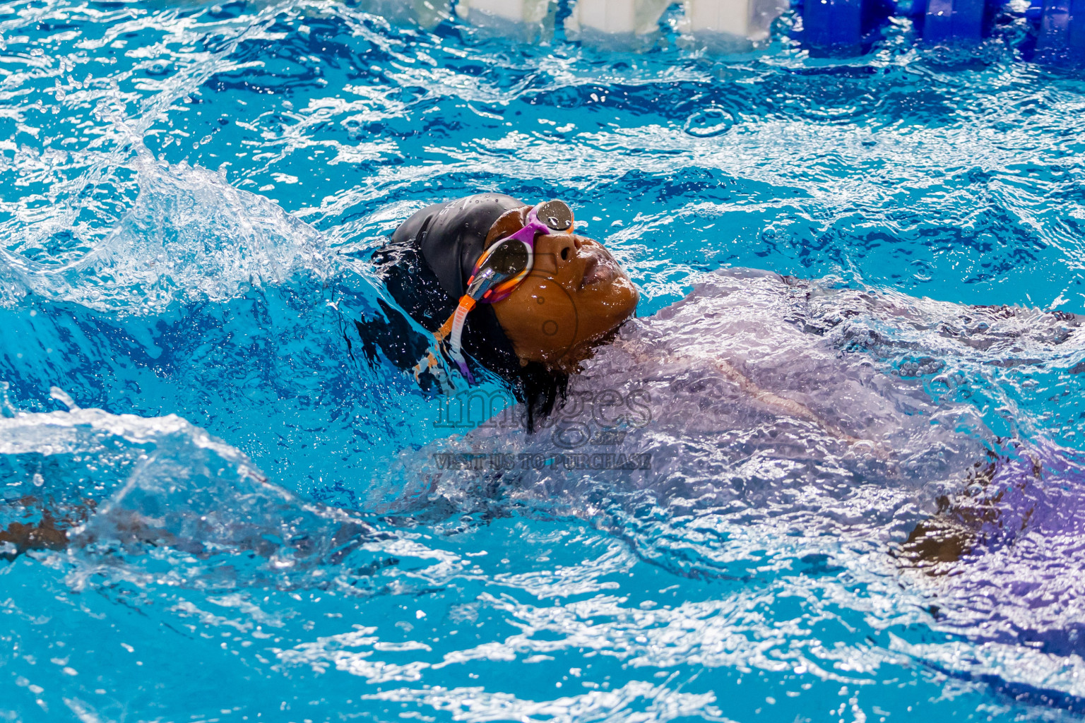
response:
[[[462,498],[464,487],[499,488],[507,495],[566,499],[589,516],[626,505],[622,514],[634,519],[643,514],[634,512],[641,504],[675,515],[723,509],[801,517],[795,500],[803,496],[860,494],[867,496],[850,500],[850,512],[840,514],[868,519],[871,533],[903,525],[902,563],[928,569],[990,538],[980,534],[997,524],[988,498],[1007,480],[1027,487],[1038,473],[993,452],[1005,454],[1005,444],[975,408],[932,401],[921,374],[879,372],[869,354],[847,349],[883,344],[879,324],[937,327],[937,339],[953,338],[946,330],[962,324],[990,333],[962,333],[941,353],[994,357],[999,345],[1011,352],[1030,335],[1037,344],[1061,344],[1078,325],[1073,314],[959,305],[943,305],[945,318],[931,320],[904,295],[742,269],[718,270],[682,301],[634,320],[636,286],[601,244],[576,232],[573,209],[499,194],[418,211],[374,263],[391,296],[426,334],[386,306],[384,318],[357,323],[369,359],[378,359],[380,348],[423,386],[454,392],[492,374],[523,403],[520,432],[482,425],[435,443],[434,455],[412,450],[405,467],[417,472],[420,456],[444,451],[544,460],[573,450],[584,464],[654,455],[647,469],[585,475],[518,467],[486,473],[494,479],[484,486],[473,473],[408,469],[394,485],[421,489],[407,489],[399,500],[427,504],[441,495]],[[616,418],[615,399],[637,395],[644,424],[626,413],[607,434],[592,431],[601,417]],[[976,507],[985,512],[970,512]],[[822,524],[810,519],[809,528]]]

